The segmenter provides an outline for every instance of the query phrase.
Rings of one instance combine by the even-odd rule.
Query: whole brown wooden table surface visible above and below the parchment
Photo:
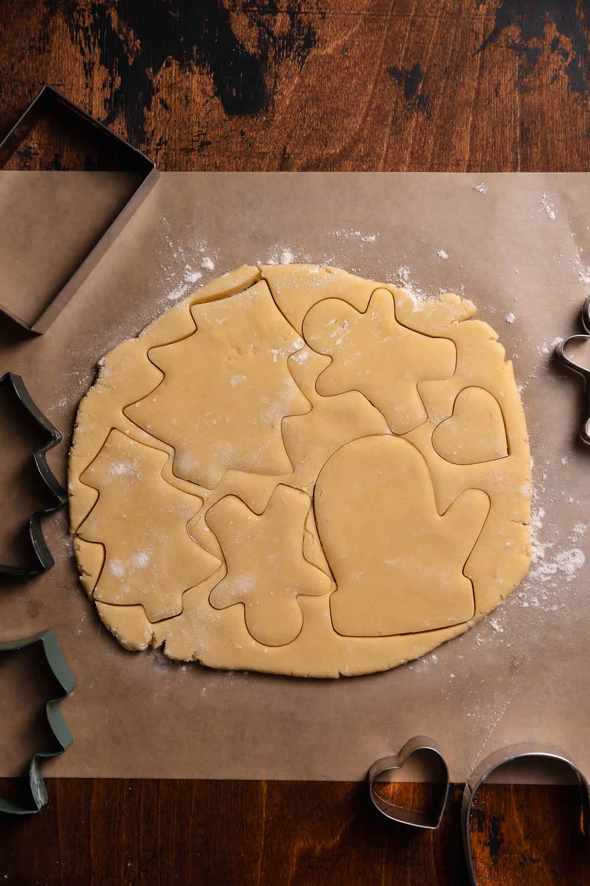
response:
[[[163,170],[583,171],[589,28],[589,0],[4,0],[0,136],[50,83]],[[10,167],[111,163],[40,125]],[[461,786],[432,833],[380,819],[356,783],[48,789],[0,822],[0,882],[466,882]],[[487,787],[479,882],[590,882],[578,823],[572,789]]]

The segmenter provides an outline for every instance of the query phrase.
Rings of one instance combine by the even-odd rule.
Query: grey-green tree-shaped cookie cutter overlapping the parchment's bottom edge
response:
[[[32,646],[34,643],[42,644],[47,665],[62,688],[62,694],[57,696],[57,698],[51,698],[45,705],[45,715],[51,732],[55,736],[57,748],[39,750],[31,758],[27,780],[28,802],[18,804],[12,800],[0,797],[0,812],[9,815],[30,815],[42,809],[42,806],[47,803],[47,790],[45,789],[41,771],[42,760],[63,754],[73,742],[73,734],[68,729],[65,719],[59,710],[59,703],[63,702],[73,691],[73,688],[76,686],[76,678],[67,666],[61,649],[57,645],[55,631],[50,628],[49,631],[34,633],[33,636],[24,637],[22,640],[0,642],[0,653],[24,649],[27,646]]]

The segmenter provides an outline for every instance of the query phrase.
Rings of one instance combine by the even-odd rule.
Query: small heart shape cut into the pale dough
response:
[[[479,464],[506,458],[506,429],[495,397],[477,387],[459,392],[453,415],[434,428],[433,448],[453,464]]]

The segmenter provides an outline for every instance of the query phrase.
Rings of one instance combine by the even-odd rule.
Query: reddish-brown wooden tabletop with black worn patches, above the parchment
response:
[[[44,82],[162,169],[578,171],[590,0],[4,0],[0,131]],[[55,135],[15,160],[96,167]]]

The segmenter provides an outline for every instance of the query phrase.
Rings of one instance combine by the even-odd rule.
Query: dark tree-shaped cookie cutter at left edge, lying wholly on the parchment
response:
[[[35,405],[30,393],[27,391],[27,385],[20,376],[13,372],[6,372],[0,377],[0,385],[8,385],[14,395],[20,400],[22,405],[27,409],[29,415],[33,418],[34,423],[43,431],[47,442],[44,446],[34,453],[34,466],[37,469],[43,483],[50,490],[56,503],[51,508],[33,511],[28,518],[28,532],[33,547],[34,559],[36,565],[27,566],[7,566],[0,564],[0,575],[39,575],[53,566],[55,560],[51,556],[50,549],[43,538],[41,520],[46,514],[53,513],[54,510],[63,508],[67,501],[67,493],[64,487],[59,483],[53,471],[47,463],[46,455],[50,449],[57,446],[61,442],[62,436],[57,428],[50,423],[50,420],[43,416],[42,411]]]

